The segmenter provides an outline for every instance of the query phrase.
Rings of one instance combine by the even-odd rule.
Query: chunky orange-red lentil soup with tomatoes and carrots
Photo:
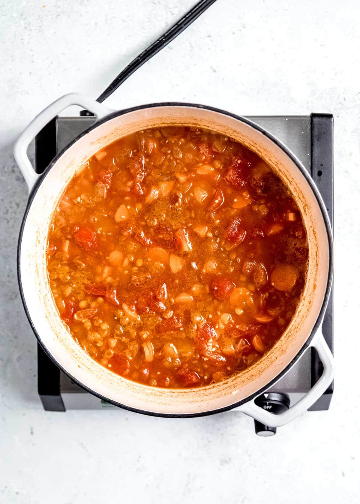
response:
[[[96,153],[49,230],[50,287],[75,341],[156,387],[209,385],[281,337],[308,242],[270,166],[222,135],[140,131]]]

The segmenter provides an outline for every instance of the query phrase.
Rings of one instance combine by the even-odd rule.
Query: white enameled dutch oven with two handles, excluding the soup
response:
[[[29,143],[54,116],[70,105],[93,112],[97,120],[59,153],[42,175],[27,157]],[[253,366],[237,376],[199,389],[159,389],[131,382],[95,362],[77,345],[61,321],[46,271],[47,233],[66,185],[95,152],[138,130],[183,124],[214,130],[261,156],[291,188],[309,239],[309,272],[304,294],[281,339]],[[68,94],[43,110],[28,125],[14,148],[29,187],[21,226],[18,276],[31,327],[42,348],[71,379],[116,406],[159,416],[198,416],[237,408],[268,426],[284,425],[307,410],[333,379],[333,357],[321,325],[332,280],[332,238],[321,196],[301,163],[279,141],[248,119],[203,105],[159,103],[128,110],[109,110],[81,94]],[[324,365],[319,381],[287,411],[273,415],[254,399],[278,381],[302,356],[316,348]]]

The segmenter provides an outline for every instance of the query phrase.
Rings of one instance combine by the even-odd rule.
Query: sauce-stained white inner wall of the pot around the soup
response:
[[[75,171],[95,152],[141,129],[186,124],[230,136],[259,154],[291,188],[309,239],[309,272],[298,309],[281,339],[252,367],[200,389],[158,389],[112,373],[89,357],[59,318],[46,272],[46,243],[53,211]],[[314,192],[302,172],[272,140],[242,120],[191,106],[166,105],[127,112],[99,124],[59,158],[39,186],[24,225],[21,283],[36,332],[56,362],[104,398],[160,414],[194,414],[223,408],[255,394],[301,351],[318,318],[329,270],[328,237]]]

